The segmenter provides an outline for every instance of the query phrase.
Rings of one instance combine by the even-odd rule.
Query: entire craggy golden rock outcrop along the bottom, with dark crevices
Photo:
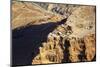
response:
[[[42,45],[32,64],[92,61],[96,53],[94,34],[81,39],[73,37],[69,40],[52,36]]]

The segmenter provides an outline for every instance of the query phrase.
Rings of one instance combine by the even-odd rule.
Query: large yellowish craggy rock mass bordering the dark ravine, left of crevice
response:
[[[40,53],[34,58],[32,64],[61,63],[63,59],[63,49],[61,47],[64,46],[60,42],[59,36],[52,36],[51,34],[48,41],[42,43],[42,45],[39,48]]]

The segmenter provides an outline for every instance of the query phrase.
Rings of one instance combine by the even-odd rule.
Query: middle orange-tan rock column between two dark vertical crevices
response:
[[[78,55],[80,54],[80,51],[82,49],[80,48],[80,44],[78,43],[78,40],[75,38],[72,38],[70,40],[70,47],[69,47],[69,58],[71,62],[78,62],[80,61],[78,58]]]

